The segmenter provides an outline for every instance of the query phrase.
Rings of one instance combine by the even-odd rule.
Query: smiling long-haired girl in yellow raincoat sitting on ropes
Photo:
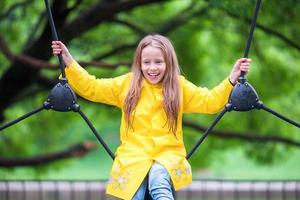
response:
[[[121,144],[107,193],[126,200],[143,200],[147,187],[154,200],[173,200],[173,188],[192,182],[182,114],[210,114],[224,108],[241,71],[248,72],[251,61],[237,60],[229,77],[208,90],[180,76],[175,50],[161,35],[144,37],[136,49],[132,72],[116,78],[89,75],[60,41],[53,41],[52,49],[54,55],[62,54],[67,79],[78,95],[122,111]]]

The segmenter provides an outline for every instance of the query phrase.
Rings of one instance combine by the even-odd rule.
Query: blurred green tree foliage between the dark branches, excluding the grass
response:
[[[17,2],[28,2],[0,18],[0,32],[14,53],[22,52],[30,42],[40,36],[46,24],[43,1],[2,0],[0,16]],[[76,1],[68,1],[72,6]],[[91,8],[96,0],[82,1],[74,9],[68,20]],[[202,15],[195,16],[166,35],[172,40],[177,51],[182,73],[193,83],[212,88],[228,76],[235,60],[242,57],[250,24],[243,17],[252,18],[254,0],[173,0],[149,4],[127,12],[121,12],[116,19],[123,20],[141,29],[144,33],[155,32],[174,16],[183,14],[190,4],[190,12],[208,7]],[[257,28],[249,56],[253,60],[248,81],[255,87],[261,100],[272,109],[299,121],[300,116],[300,49],[290,45],[283,37],[300,44],[300,2],[298,0],[263,1],[258,23],[267,27]],[[237,17],[230,15],[234,13]],[[39,20],[41,19],[41,20]],[[278,33],[278,34],[274,34]],[[93,60],[99,55],[124,44],[135,44],[142,33],[115,21],[105,21],[99,26],[70,41],[68,47],[77,60]],[[50,43],[50,38],[49,38]],[[45,44],[49,45],[49,44]],[[50,45],[49,45],[50,51]],[[131,62],[133,48],[104,58],[108,63]],[[56,63],[56,58],[51,62]],[[0,77],[10,67],[10,61],[0,54]],[[88,67],[87,70],[98,77],[114,77],[128,72],[129,66],[110,70]],[[58,70],[44,69],[41,75],[56,79]],[[20,99],[5,111],[6,121],[13,120],[28,111],[41,106],[48,90],[35,84],[29,89],[31,95]],[[22,96],[22,95],[20,95]],[[82,110],[103,135],[109,146],[115,149],[119,143],[118,131],[120,112],[118,109],[86,102],[80,99]],[[215,118],[207,115],[186,115],[204,126],[209,126]],[[262,111],[229,113],[216,127],[218,130],[253,132],[261,135],[278,135],[300,141],[299,129]],[[199,138],[199,133],[186,128],[187,149]],[[2,157],[26,157],[63,150],[83,140],[95,140],[83,120],[74,113],[43,111],[0,135],[0,155]],[[275,143],[245,142],[234,139],[208,137],[191,159],[192,166],[208,166],[222,157],[225,149],[243,147],[244,154],[259,164],[276,164],[295,151],[288,145]],[[36,168],[37,172],[62,168],[67,161]]]

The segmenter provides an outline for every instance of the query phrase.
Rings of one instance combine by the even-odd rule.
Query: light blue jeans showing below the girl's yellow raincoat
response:
[[[153,200],[174,200],[170,175],[158,162],[153,163],[132,200],[144,200],[147,186]]]

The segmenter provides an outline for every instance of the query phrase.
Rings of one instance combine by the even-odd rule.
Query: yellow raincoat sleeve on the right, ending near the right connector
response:
[[[209,90],[183,78],[183,112],[213,114],[222,110],[233,88],[228,77]]]

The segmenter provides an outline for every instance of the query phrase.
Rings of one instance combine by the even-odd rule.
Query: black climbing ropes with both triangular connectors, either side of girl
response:
[[[49,19],[49,24],[51,27],[51,33],[52,33],[52,38],[53,40],[58,40],[58,35],[56,32],[55,24],[53,21],[51,9],[49,6],[49,3],[47,0],[45,1],[46,9],[47,9],[47,14],[48,14],[48,19]],[[256,7],[254,11],[254,16],[252,19],[249,35],[248,35],[248,40],[246,43],[246,48],[244,51],[244,57],[248,57],[248,53],[250,50],[250,46],[252,43],[253,39],[253,33],[254,29],[256,26],[256,21],[258,17],[258,12],[260,9],[261,5],[261,0],[257,0],[256,2]],[[65,66],[63,64],[63,59],[61,55],[58,55],[58,60],[60,63],[60,69],[61,69],[61,74],[62,78],[59,80],[59,83],[51,90],[47,100],[44,102],[43,106],[35,109],[11,122],[8,122],[7,124],[4,124],[0,126],[0,131],[2,131],[5,128],[8,128],[44,109],[52,109],[54,111],[59,111],[59,112],[68,112],[68,111],[74,111],[80,114],[80,116],[84,119],[84,121],[88,124],[89,128],[92,130],[94,135],[96,136],[97,140],[99,143],[103,146],[103,148],[106,150],[106,152],[109,154],[109,156],[114,159],[115,156],[113,152],[110,150],[108,145],[105,143],[103,138],[99,135],[95,127],[92,125],[90,120],[86,117],[86,115],[80,110],[80,106],[77,104],[77,97],[72,88],[68,85],[67,80],[65,78]],[[257,92],[254,90],[254,88],[247,82],[245,79],[245,73],[242,72],[238,83],[234,86],[228,103],[223,109],[223,111],[216,117],[216,119],[213,121],[212,125],[209,126],[202,137],[198,140],[198,142],[194,145],[192,150],[187,154],[186,158],[189,159],[197,150],[197,148],[201,145],[201,143],[204,141],[204,139],[208,136],[208,134],[213,130],[213,128],[217,125],[217,123],[222,119],[222,117],[227,113],[232,110],[235,111],[249,111],[252,109],[262,109],[265,110],[266,112],[269,112],[278,118],[300,128],[300,124],[281,115],[280,113],[266,107],[262,101],[259,100]]]

